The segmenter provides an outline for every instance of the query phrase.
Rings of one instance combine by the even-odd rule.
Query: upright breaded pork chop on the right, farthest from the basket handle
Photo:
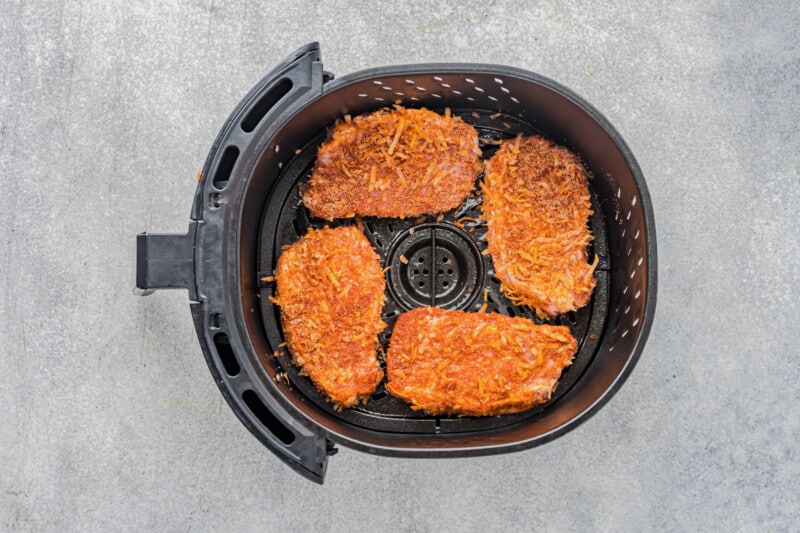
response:
[[[595,286],[586,247],[592,214],[588,173],[543,137],[503,142],[486,166],[483,212],[503,293],[542,318],[586,305]]]

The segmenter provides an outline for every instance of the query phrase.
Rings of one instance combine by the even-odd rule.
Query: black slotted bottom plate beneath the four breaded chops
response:
[[[531,124],[504,114],[473,109],[452,111],[455,116],[476,127],[484,158],[487,159],[497,150],[497,145],[492,141],[513,138],[517,133],[541,133]],[[325,138],[326,131],[323,128],[311,143],[295,149],[295,157],[287,162],[280,175],[264,211],[259,279],[272,275],[282,247],[296,242],[309,228],[358,225],[380,256],[381,265],[384,268],[391,267],[386,272],[387,290],[383,309],[383,320],[388,327],[379,336],[384,352],[388,349],[397,317],[415,307],[435,305],[445,309],[478,312],[485,302],[486,312],[520,316],[542,323],[530,308],[514,305],[502,294],[499,280],[494,276],[491,257],[481,253],[486,249],[486,225],[482,220],[482,196],[479,187],[482,176],[476,180],[470,197],[459,207],[441,215],[404,220],[368,217],[329,222],[311,217],[302,204],[300,193],[313,169],[317,148]],[[580,377],[594,355],[605,324],[608,306],[606,230],[602,208],[595,195],[592,207],[595,214],[590,220],[590,227],[595,240],[589,250],[589,262],[593,261],[594,254],[602,259],[596,273],[597,287],[586,307],[549,321],[568,326],[578,339],[579,349],[573,364],[564,371],[558,388],[548,403],[513,415],[434,417],[423,411],[414,411],[404,401],[389,395],[384,388],[384,380],[366,404],[337,410],[317,391],[308,377],[300,375],[285,347],[276,351],[282,370],[281,378],[288,379],[292,387],[331,416],[380,431],[478,431],[513,424],[541,412],[558,401]],[[407,263],[400,260],[401,256]],[[269,297],[274,295],[274,283],[262,282],[261,285],[264,328],[270,343],[280,346],[284,344],[280,310],[269,302]],[[383,361],[381,363],[385,366]]]

